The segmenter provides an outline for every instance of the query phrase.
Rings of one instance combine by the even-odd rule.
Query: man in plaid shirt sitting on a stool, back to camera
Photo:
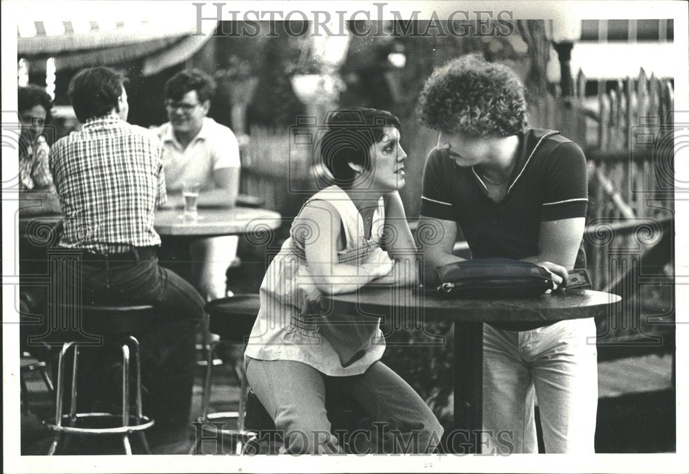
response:
[[[107,67],[72,78],[69,95],[83,127],[54,144],[50,171],[64,215],[59,245],[82,250],[83,301],[160,309],[161,322],[140,341],[143,366],[156,371],[185,338],[196,337],[204,301],[158,266],[154,210],[167,199],[161,143],[126,122],[124,82]]]

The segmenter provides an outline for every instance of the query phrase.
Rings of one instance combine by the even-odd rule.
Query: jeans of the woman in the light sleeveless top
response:
[[[352,396],[373,418],[377,429],[347,433],[358,453],[431,453],[442,427],[420,396],[380,361],[364,374],[331,377],[294,360],[247,358],[247,379],[283,433],[280,453],[342,453],[331,434],[325,386]],[[378,438],[382,433],[382,439]]]

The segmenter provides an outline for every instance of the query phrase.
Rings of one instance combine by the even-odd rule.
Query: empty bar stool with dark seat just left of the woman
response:
[[[214,354],[220,343],[231,343],[244,345],[245,339],[251,334],[254,321],[258,316],[258,294],[236,294],[232,297],[220,298],[207,303],[205,310],[209,314],[209,330],[212,334],[218,334],[220,341],[212,344],[207,352],[206,374],[203,387],[203,401],[201,405],[201,415],[197,423],[201,427],[201,436],[198,436],[196,443],[189,451],[190,454],[197,454],[200,451],[201,443],[205,438],[203,432],[211,433],[221,437],[227,435],[234,440],[235,452],[241,453],[242,447],[256,436],[256,433],[245,429],[244,419],[246,416],[246,397],[248,391],[247,375],[244,370],[244,358],[242,356],[232,360],[234,373],[240,382],[239,406],[237,411],[223,411],[209,413],[212,389],[212,369],[214,366]],[[234,429],[226,429],[223,426],[227,422],[236,423]]]

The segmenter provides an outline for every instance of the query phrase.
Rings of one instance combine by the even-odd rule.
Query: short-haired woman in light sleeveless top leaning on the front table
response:
[[[398,193],[407,158],[399,128],[398,118],[382,110],[342,109],[329,116],[320,151],[336,184],[305,203],[263,279],[245,352],[247,379],[284,433],[281,453],[343,452],[330,433],[326,385],[384,424],[383,440],[373,432],[358,437],[359,453],[376,452],[379,442],[385,452],[400,451],[402,442],[431,452],[440,441],[442,427],[431,409],[380,362],[380,319],[372,325],[371,318],[351,316],[347,325],[331,325],[336,315],[308,317],[322,313],[311,304],[320,293],[353,292],[371,281],[418,283],[418,272],[404,271],[416,263]]]

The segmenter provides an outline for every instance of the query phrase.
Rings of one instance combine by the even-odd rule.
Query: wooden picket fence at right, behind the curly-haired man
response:
[[[574,97],[547,96],[530,114],[531,125],[557,129],[586,152],[586,253],[595,287],[604,290],[624,278],[610,268],[613,255],[620,249],[646,254],[663,238],[659,233],[672,232],[674,208],[672,83],[641,69],[636,78],[608,84],[599,81],[597,97],[586,98],[579,71]]]

